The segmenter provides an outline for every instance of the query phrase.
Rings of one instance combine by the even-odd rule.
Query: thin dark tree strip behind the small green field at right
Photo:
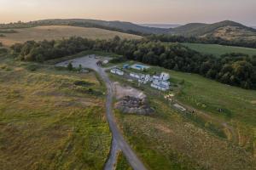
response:
[[[148,39],[152,41],[160,42],[191,42],[191,43],[206,43],[206,44],[219,44],[228,46],[238,46],[245,48],[256,48],[255,40],[224,40],[220,37],[183,37],[183,36],[173,36],[173,35],[150,35]]]

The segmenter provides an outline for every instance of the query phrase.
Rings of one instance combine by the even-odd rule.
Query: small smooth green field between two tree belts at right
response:
[[[241,47],[223,46],[218,44],[203,44],[203,43],[182,43],[182,44],[202,54],[222,55],[227,53],[242,53],[242,54],[256,55],[255,48],[241,48]]]

